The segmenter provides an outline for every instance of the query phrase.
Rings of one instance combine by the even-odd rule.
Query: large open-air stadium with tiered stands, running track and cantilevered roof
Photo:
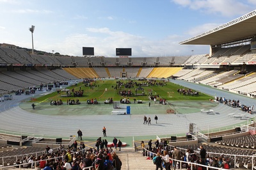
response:
[[[78,129],[84,132],[86,146],[93,148],[105,126],[108,141],[117,137],[131,146],[133,151],[141,150],[141,140],[147,144],[150,139],[159,141],[163,146],[164,141],[168,141],[168,147],[172,149],[177,146],[183,152],[187,148],[197,150],[200,144],[206,143],[204,147],[211,157],[225,155],[232,168],[255,169],[253,114],[256,95],[256,11],[184,40],[180,45],[209,45],[210,51],[209,54],[202,55],[152,58],[132,58],[125,55],[118,58],[74,57],[42,52],[31,54],[30,50],[1,44],[0,93],[3,97],[0,142],[3,163],[1,162],[0,168],[13,166],[13,158],[17,160],[15,154],[18,155],[17,151],[22,146],[26,146],[26,152],[24,149],[24,154],[20,155],[22,151],[19,150],[19,158],[42,154],[40,150],[45,146],[57,148],[62,143],[65,147],[74,147]],[[103,105],[106,102],[104,96],[97,97],[100,105],[93,101],[90,105],[88,100],[86,104],[84,99],[80,101],[81,105],[70,106],[70,96],[62,90],[68,89],[68,86],[72,89],[84,81],[83,86],[95,83],[99,87],[108,81],[138,81],[145,82],[147,86],[151,81],[164,82],[164,86],[172,83],[193,89],[193,96],[196,93],[200,96],[202,93],[209,97],[204,102],[175,101],[177,89],[167,89],[166,96],[163,97],[166,100],[164,104],[158,103],[159,97],[156,102],[154,98],[143,98],[142,104],[139,104],[140,97],[136,97],[134,104],[132,101],[121,105],[121,101],[114,100],[113,105]],[[137,90],[142,90],[141,94],[146,95],[146,98],[150,93],[151,96],[156,96],[157,92],[154,90],[143,91],[147,86],[133,88],[132,91],[136,91],[137,95]],[[93,90],[94,87],[90,88]],[[122,89],[129,91],[126,87]],[[118,88],[113,90],[118,92]],[[42,102],[38,100],[57,91],[58,98],[66,96],[61,100],[64,104],[67,100],[67,105],[53,107],[49,105],[52,102],[49,98]],[[88,94],[91,94],[89,91],[88,89]],[[109,87],[105,91],[109,91]],[[178,95],[182,96],[182,93]],[[185,93],[186,91],[183,95],[188,95]],[[86,98],[92,97],[88,95]],[[35,109],[31,108],[31,103],[36,104]],[[131,114],[128,113],[130,108]],[[142,124],[143,116],[151,116],[153,124],[155,114],[159,118],[158,122],[145,128]],[[11,146],[20,148],[16,151]],[[127,154],[131,152],[127,151]],[[143,148],[144,157],[138,153],[143,163],[137,169],[155,169],[154,164],[148,166],[148,160],[145,160],[145,157],[151,159],[150,155],[153,153],[154,151]],[[124,158],[123,162],[127,161],[124,155],[120,158]],[[186,164],[183,160],[181,162]],[[180,169],[186,168],[182,163],[179,166]],[[205,165],[203,167],[209,168]],[[132,169],[132,163],[124,164],[122,169]]]

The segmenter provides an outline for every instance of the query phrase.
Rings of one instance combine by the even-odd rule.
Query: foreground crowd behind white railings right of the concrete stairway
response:
[[[148,148],[146,148],[144,141],[141,141],[143,156],[147,156],[148,159],[153,159],[156,169],[163,169],[163,167],[166,170],[170,170],[171,168],[179,169],[180,166],[188,170],[203,170],[206,169],[204,166],[220,167],[223,169],[230,168],[230,163],[224,155],[221,155],[220,157],[210,157],[207,155],[207,151],[203,145],[198,148],[198,152],[191,148],[182,152],[177,147],[174,147],[173,150],[171,150],[171,148],[168,147],[167,141],[159,143],[157,140],[155,144],[156,147],[152,148],[152,140],[150,139],[150,141],[148,141]],[[179,161],[172,160],[172,158],[175,160],[182,160],[183,162],[180,165]],[[191,163],[196,163],[197,165]]]

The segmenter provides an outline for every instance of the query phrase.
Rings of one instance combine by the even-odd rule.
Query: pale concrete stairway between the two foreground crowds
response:
[[[122,161],[122,170],[156,169],[152,160],[147,160],[147,157],[143,157],[140,151],[134,151],[133,148],[122,148],[121,151],[117,150],[116,155]]]

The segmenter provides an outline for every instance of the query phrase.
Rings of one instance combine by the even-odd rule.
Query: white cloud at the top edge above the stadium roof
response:
[[[200,10],[204,13],[214,13],[223,16],[244,15],[248,11],[253,10],[249,4],[241,3],[237,0],[172,0],[174,3],[192,10]],[[254,3],[254,0],[248,0]]]

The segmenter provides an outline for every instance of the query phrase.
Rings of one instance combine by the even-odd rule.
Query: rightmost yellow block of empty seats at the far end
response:
[[[168,78],[179,72],[181,69],[182,67],[157,67],[152,70],[152,72],[148,75],[148,78]]]

